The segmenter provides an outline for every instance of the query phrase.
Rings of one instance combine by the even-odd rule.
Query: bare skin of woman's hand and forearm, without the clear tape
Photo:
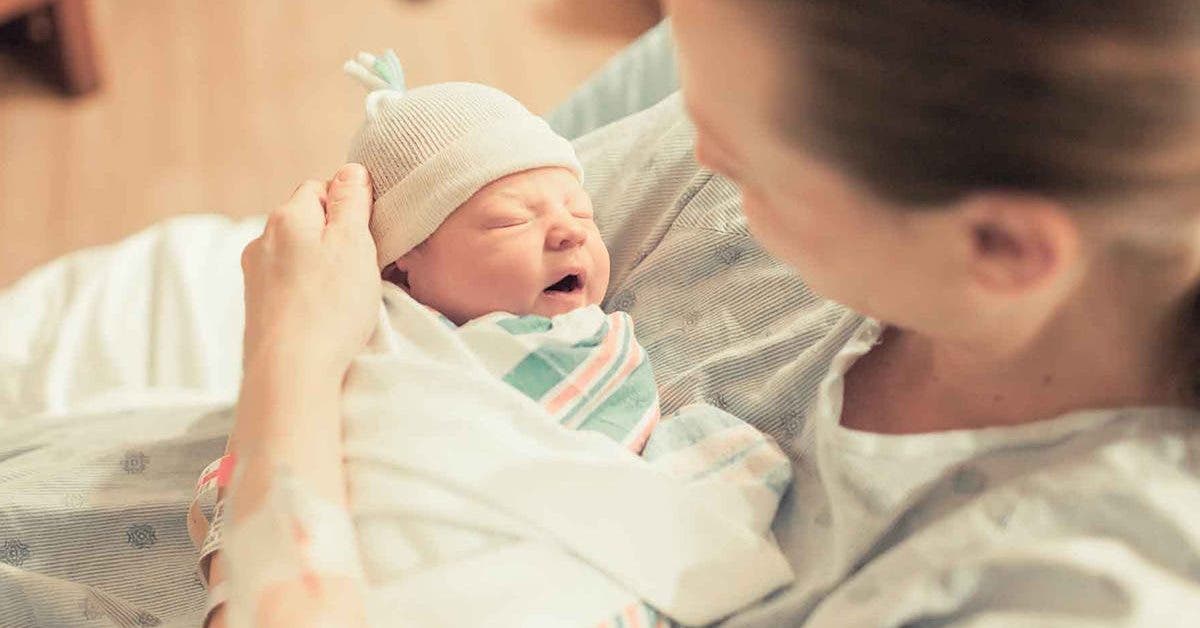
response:
[[[260,507],[280,467],[290,468],[313,495],[346,503],[340,384],[370,337],[379,307],[370,215],[367,173],[350,163],[329,184],[302,184],[271,213],[263,235],[241,256],[245,375],[228,444],[241,472],[233,483],[227,525],[238,525]],[[214,584],[224,580],[227,560],[246,557],[217,554]],[[266,567],[244,566],[256,568]],[[250,603],[276,616],[269,626],[325,626],[323,618],[330,616],[342,626],[365,626],[365,606],[353,581],[334,576],[316,584],[318,592],[311,581],[278,582]],[[210,626],[224,622],[224,609],[218,609]]]

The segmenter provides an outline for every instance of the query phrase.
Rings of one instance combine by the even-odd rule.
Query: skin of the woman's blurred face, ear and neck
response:
[[[1169,208],[1188,199],[890,205],[776,132],[776,77],[796,68],[772,43],[768,2],[668,5],[701,163],[739,186],[756,239],[812,289],[890,325],[848,373],[844,426],[912,433],[1182,402],[1170,348],[1200,282],[1200,228]],[[1170,229],[1139,226],[1156,220]]]

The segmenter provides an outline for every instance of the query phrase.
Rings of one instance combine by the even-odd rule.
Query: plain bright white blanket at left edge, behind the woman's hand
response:
[[[263,217],[175,217],[0,291],[0,424],[146,397],[233,401],[241,250]]]

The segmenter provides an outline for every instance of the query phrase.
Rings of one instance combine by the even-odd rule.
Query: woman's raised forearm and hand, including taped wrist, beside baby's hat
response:
[[[245,376],[229,448],[239,468],[210,574],[229,579],[235,605],[218,626],[230,610],[256,626],[365,623],[340,395],[379,307],[370,216],[367,172],[346,165],[296,187],[242,251]]]

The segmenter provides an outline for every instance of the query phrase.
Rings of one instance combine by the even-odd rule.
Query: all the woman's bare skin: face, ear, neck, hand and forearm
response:
[[[776,133],[776,77],[794,68],[772,48],[763,6],[668,1],[701,162],[742,189],[767,250],[818,293],[889,324],[847,375],[844,426],[914,433],[1182,402],[1170,348],[1200,283],[1196,199],[1163,191],[1066,207],[980,192],[892,207]],[[335,183],[328,198],[323,184],[302,186],[244,256],[246,375],[230,439],[252,465],[234,488],[244,510],[277,463],[344,502],[337,390],[379,299],[364,179]],[[269,592],[263,624],[362,624],[346,581],[317,585]]]

